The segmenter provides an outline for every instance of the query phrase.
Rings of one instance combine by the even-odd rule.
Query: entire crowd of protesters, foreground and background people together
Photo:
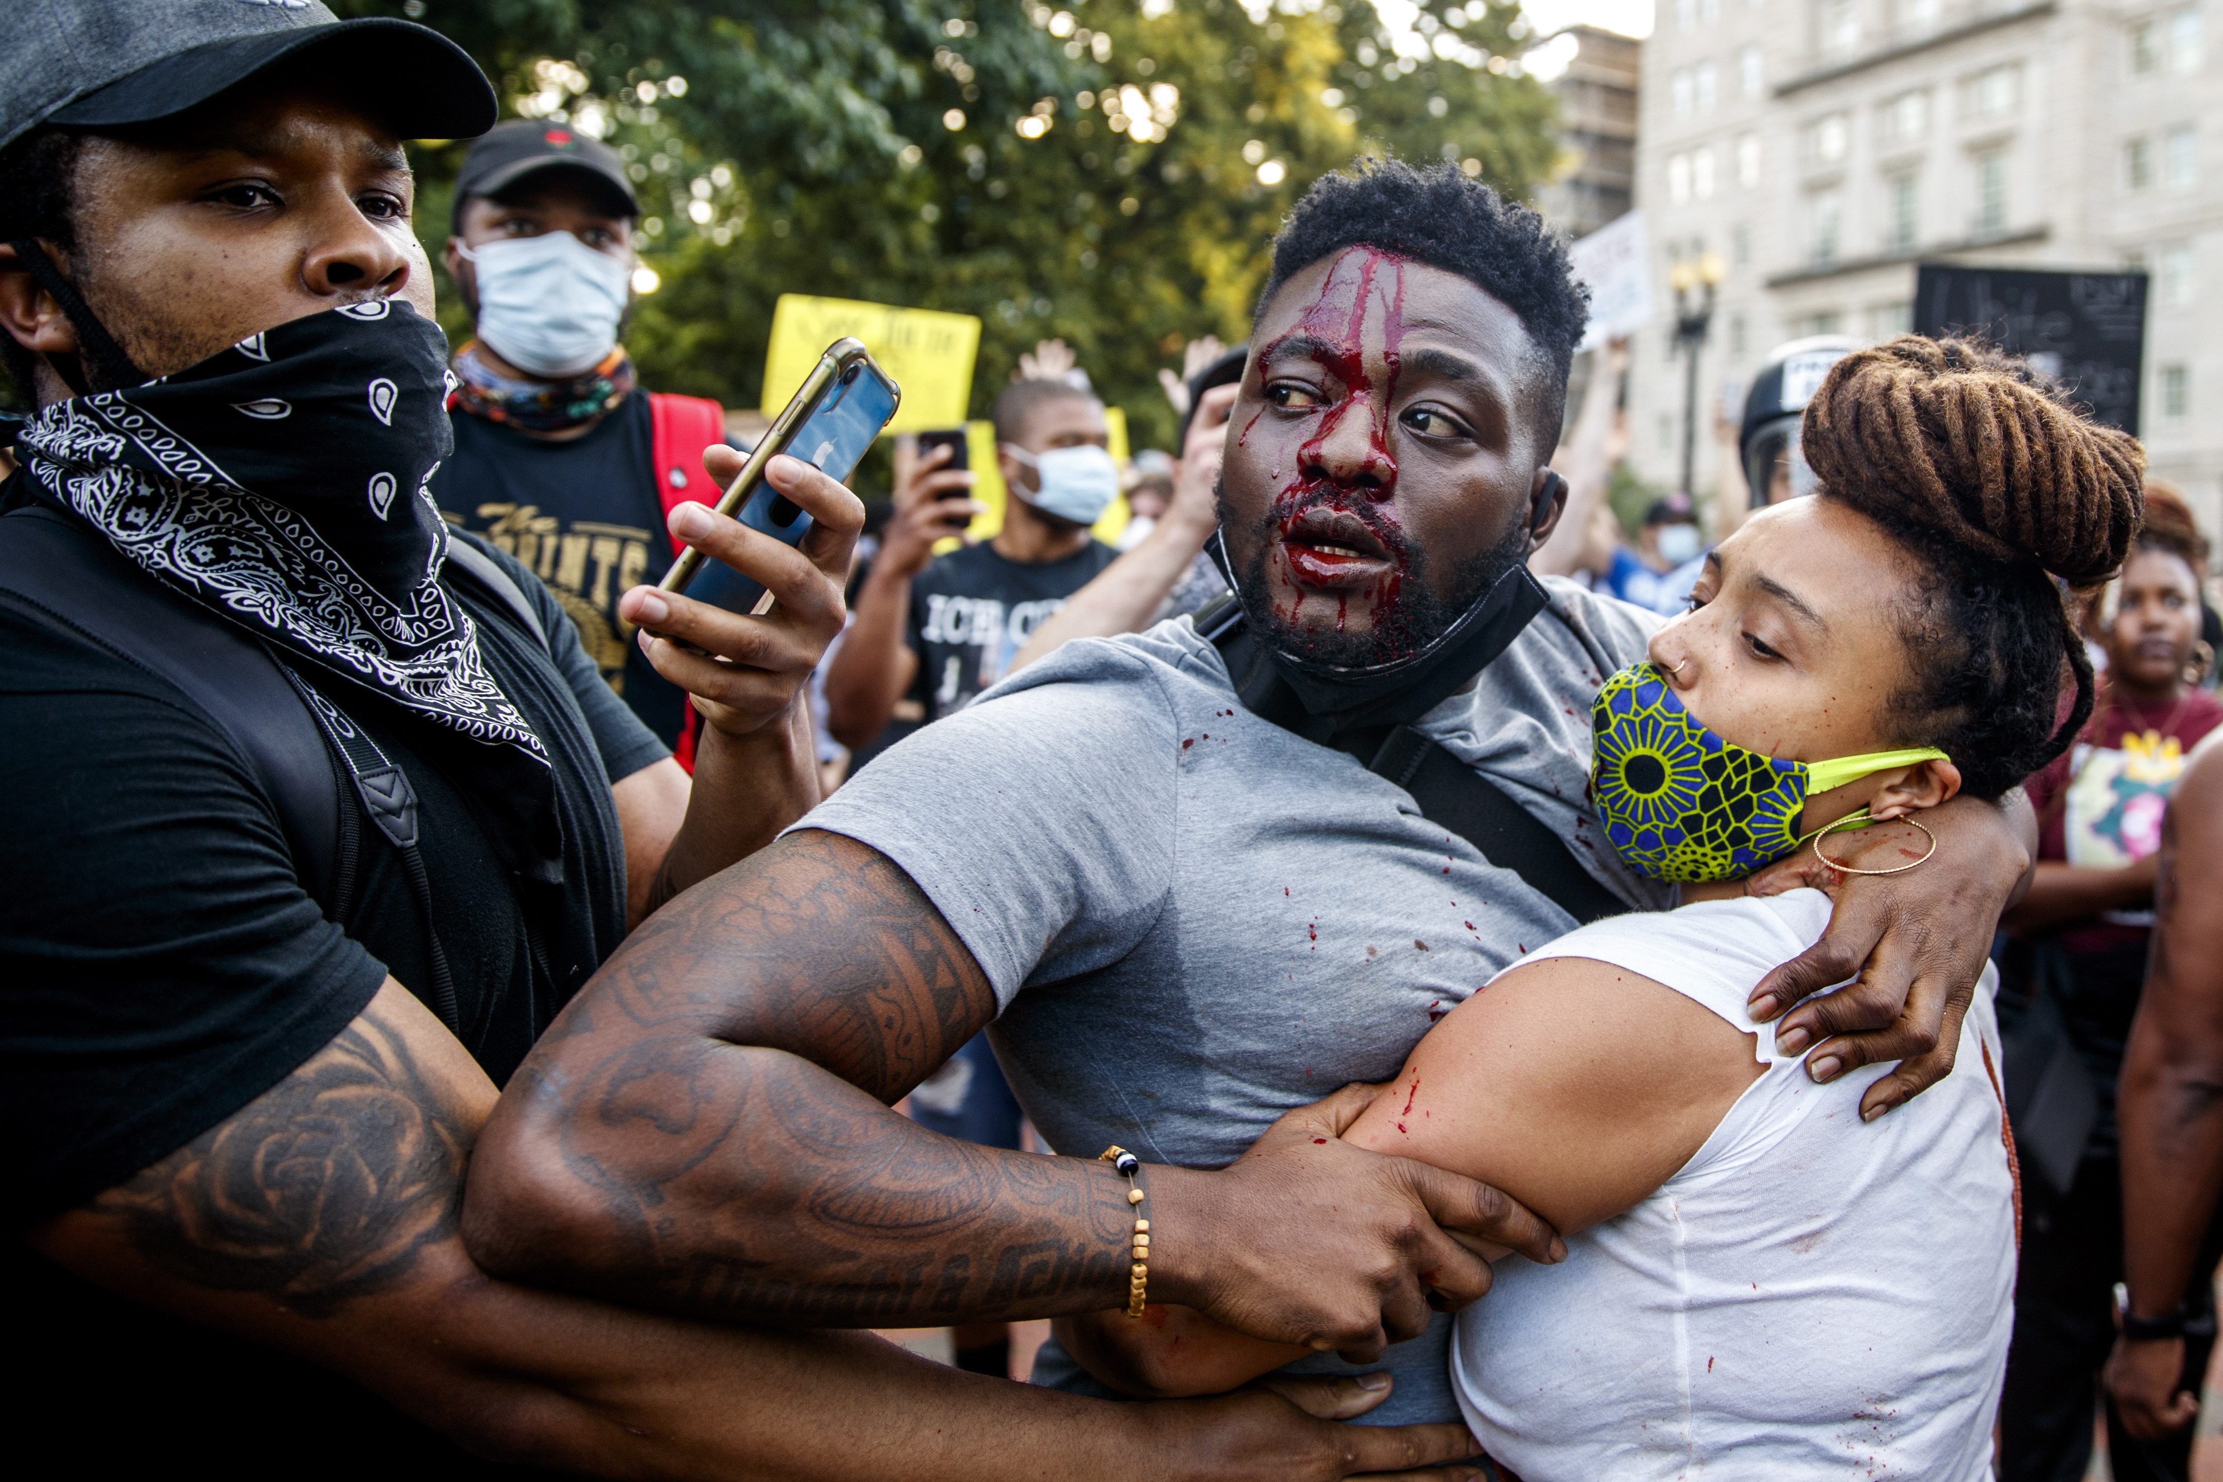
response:
[[[1043,342],[994,509],[963,429],[782,455],[787,547],[627,356],[611,149],[405,20],[38,13],[0,1118],[71,1466],[2190,1478],[2223,624],[2070,389],[1801,340],[1632,489],[1563,242],[1376,162],[1169,449]]]

